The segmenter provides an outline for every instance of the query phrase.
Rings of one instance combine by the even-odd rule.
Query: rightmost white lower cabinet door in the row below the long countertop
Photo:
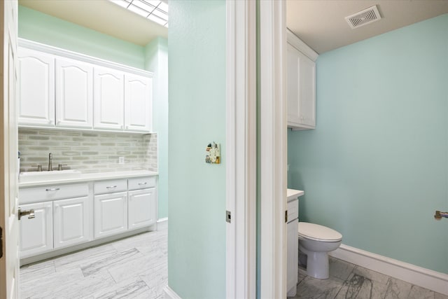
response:
[[[130,191],[128,209],[128,228],[130,230],[154,224],[157,221],[155,188]]]

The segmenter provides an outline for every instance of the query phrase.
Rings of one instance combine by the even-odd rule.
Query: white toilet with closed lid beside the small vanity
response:
[[[339,247],[342,235],[314,223],[298,223],[299,250],[307,255],[307,275],[327,279],[330,275],[328,252]]]

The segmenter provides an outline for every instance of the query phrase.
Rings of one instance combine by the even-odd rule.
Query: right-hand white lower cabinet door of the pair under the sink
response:
[[[89,197],[53,202],[55,249],[90,241]]]

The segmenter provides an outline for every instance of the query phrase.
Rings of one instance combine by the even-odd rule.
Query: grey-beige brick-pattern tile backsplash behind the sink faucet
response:
[[[72,130],[19,129],[20,171],[52,167],[77,169],[83,173],[123,172],[128,170],[158,171],[157,134],[120,132],[86,132]],[[118,157],[125,163],[118,164]]]

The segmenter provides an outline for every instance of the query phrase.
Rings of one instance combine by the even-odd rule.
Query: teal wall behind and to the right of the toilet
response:
[[[448,15],[317,60],[316,130],[288,132],[300,220],[448,273]]]

